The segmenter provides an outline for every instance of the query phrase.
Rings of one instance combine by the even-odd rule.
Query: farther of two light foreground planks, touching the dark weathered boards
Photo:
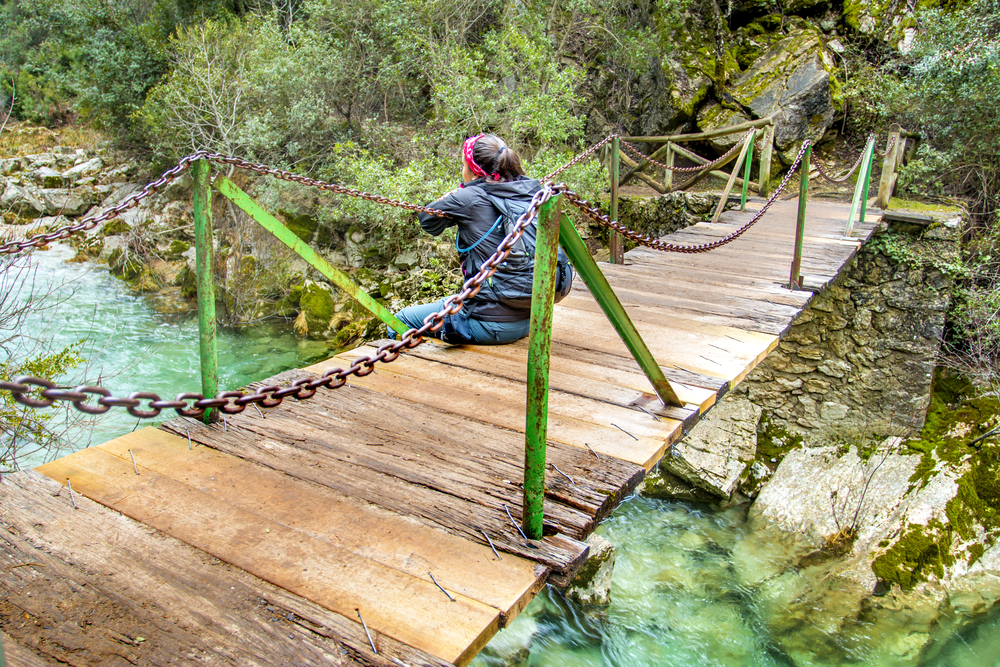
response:
[[[265,508],[268,517],[282,525],[411,576],[430,581],[428,572],[433,572],[452,593],[496,608],[504,625],[544,583],[531,561],[514,556],[496,560],[485,544],[429,528],[325,487],[303,484],[215,449],[188,449],[185,438],[160,429],[144,428],[99,449],[125,461],[131,452],[143,467],[159,475],[203,493],[221,494],[250,512]]]

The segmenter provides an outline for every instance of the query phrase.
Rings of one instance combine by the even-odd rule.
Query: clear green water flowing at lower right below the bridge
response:
[[[1000,666],[1000,606],[938,630],[907,612],[855,620],[821,567],[790,567],[795,545],[741,508],[635,496],[597,532],[617,547],[611,603],[550,587],[473,667]]]

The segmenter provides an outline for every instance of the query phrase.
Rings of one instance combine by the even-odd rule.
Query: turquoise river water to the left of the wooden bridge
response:
[[[34,349],[36,339],[48,341],[48,349],[53,350],[84,340],[80,354],[85,364],[61,381],[76,383],[85,377],[107,387],[115,396],[151,391],[172,398],[181,392],[200,392],[197,312],[178,312],[178,306],[184,307],[182,303],[137,295],[96,262],[67,262],[74,254],[65,245],[34,252],[29,259],[32,270],[18,274],[20,289],[8,282],[6,289],[16,290],[16,298],[22,302],[50,295],[22,325],[21,349]],[[238,389],[336,352],[326,343],[300,340],[287,324],[245,332],[220,328],[219,386],[222,390]],[[59,415],[61,420],[70,420],[59,426],[67,434],[65,447],[24,447],[18,460],[21,468],[100,444],[133,430],[137,423],[124,408],[112,408],[83,423],[75,410]],[[143,420],[142,425],[172,416],[172,410],[165,411],[161,418]]]

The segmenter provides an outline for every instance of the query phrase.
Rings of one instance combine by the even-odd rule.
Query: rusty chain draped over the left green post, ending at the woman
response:
[[[25,239],[23,241],[12,241],[0,246],[0,255],[13,254],[16,252],[24,252],[30,248],[39,248],[41,246],[48,245],[53,241],[60,241],[62,239],[69,238],[80,232],[90,231],[102,222],[107,222],[112,218],[116,218],[128,209],[136,206],[139,202],[147,199],[153,194],[171,181],[177,179],[185,170],[190,168],[191,163],[196,160],[209,160],[217,164],[226,164],[235,166],[238,169],[245,169],[247,171],[252,171],[263,176],[273,176],[277,179],[283,181],[290,181],[293,183],[300,183],[309,187],[319,188],[321,190],[327,190],[328,192],[333,192],[336,194],[348,195],[350,197],[357,197],[359,199],[365,199],[367,201],[372,201],[378,204],[385,204],[387,206],[395,206],[398,208],[404,208],[410,211],[417,211],[420,213],[429,213],[431,215],[445,216],[447,215],[444,211],[440,211],[434,208],[428,208],[426,206],[419,206],[417,204],[410,204],[407,202],[399,201],[398,199],[390,199],[389,197],[384,197],[382,195],[371,194],[370,192],[364,192],[363,190],[357,190],[355,188],[349,188],[345,185],[338,185],[336,183],[328,183],[326,181],[320,181],[315,178],[310,178],[308,176],[300,176],[299,174],[294,174],[290,171],[285,171],[282,169],[275,169],[274,167],[269,167],[264,164],[258,164],[255,162],[249,162],[248,160],[243,160],[240,158],[231,157],[229,155],[223,155],[222,153],[210,153],[208,151],[197,151],[191,155],[187,155],[181,158],[178,163],[163,172],[163,174],[155,181],[149,183],[140,192],[128,197],[123,202],[117,206],[113,206],[104,213],[93,216],[86,217],[77,223],[62,227],[53,232],[48,232],[46,234],[38,234],[32,236],[31,238]]]

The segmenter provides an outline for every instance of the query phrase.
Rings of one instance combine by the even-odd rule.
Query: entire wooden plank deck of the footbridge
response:
[[[657,407],[581,282],[557,306],[540,542],[515,525],[526,341],[426,344],[263,416],[173,419],[9,476],[0,615],[11,664],[467,663],[545,583],[572,576],[597,523],[807,304],[812,291],[783,287],[796,207],[775,204],[710,253],[636,249],[602,266],[688,410]],[[847,212],[809,202],[807,288],[855,253]],[[669,238],[704,243],[750,215]]]

